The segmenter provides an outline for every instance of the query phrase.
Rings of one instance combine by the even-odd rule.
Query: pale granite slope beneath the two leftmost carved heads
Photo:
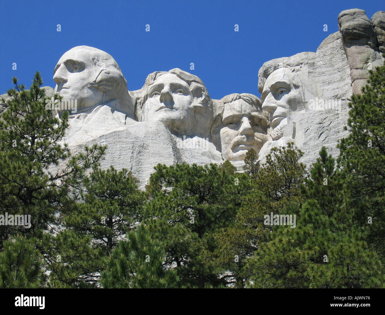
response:
[[[71,127],[70,132],[73,130]],[[158,163],[202,165],[223,162],[221,153],[208,139],[178,138],[162,122],[134,122],[109,131],[100,130],[99,133],[86,134],[84,130],[78,130],[67,135],[64,142],[69,143],[73,153],[79,152],[85,145],[107,145],[101,167],[114,165],[117,169],[128,169],[139,179],[140,188],[144,188]]]

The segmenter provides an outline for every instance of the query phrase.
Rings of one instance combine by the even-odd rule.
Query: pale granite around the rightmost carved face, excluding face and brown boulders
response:
[[[258,73],[259,92],[263,92],[269,75],[280,67],[295,73],[305,110],[281,121],[280,130],[271,133],[276,137],[269,139],[259,153],[262,160],[270,148],[287,142],[294,142],[305,152],[302,162],[306,164],[315,161],[322,146],[337,155],[337,141],[346,135],[343,127],[348,118],[348,98],[352,94],[350,67],[340,33],[327,37],[315,53],[298,53],[264,63]]]

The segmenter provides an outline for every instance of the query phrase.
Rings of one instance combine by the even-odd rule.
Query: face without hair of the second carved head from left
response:
[[[144,120],[163,122],[171,131],[191,129],[194,101],[189,85],[173,73],[158,77],[147,90]]]

